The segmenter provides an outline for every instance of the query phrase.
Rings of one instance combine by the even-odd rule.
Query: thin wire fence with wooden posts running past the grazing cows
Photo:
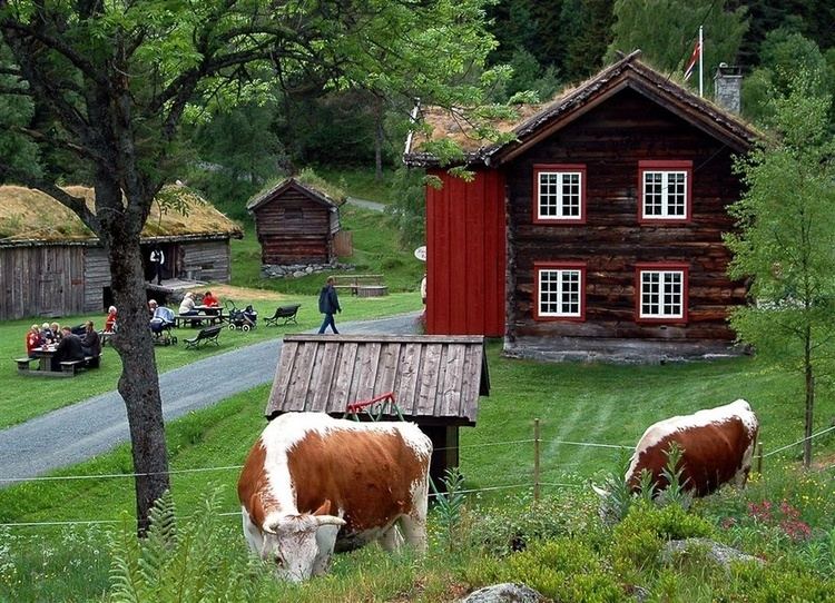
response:
[[[816,437],[821,437],[827,433],[831,433],[835,431],[835,425],[827,427],[825,429],[822,429],[817,433],[812,434],[809,437],[804,437],[802,439],[798,439],[797,442],[793,442],[790,444],[787,444],[785,446],[782,446],[779,448],[776,448],[774,451],[770,451],[768,454],[762,453],[762,443],[759,447],[759,455],[758,455],[758,471],[762,472],[762,462],[763,458],[768,458],[770,456],[774,456],[776,454],[779,454],[782,452],[785,452],[787,449],[790,449],[795,446],[799,446],[804,444],[806,441],[812,441]],[[540,445],[542,444],[551,444],[551,445],[561,445],[561,446],[578,446],[578,447],[588,447],[588,448],[606,448],[606,449],[621,449],[621,451],[632,451],[635,449],[635,446],[628,446],[623,444],[606,444],[600,442],[581,442],[581,441],[572,441],[572,439],[559,439],[559,438],[541,438],[539,437],[539,419],[534,421],[534,437],[532,438],[522,438],[522,439],[511,439],[511,441],[502,441],[502,442],[485,442],[480,444],[464,444],[460,446],[445,446],[445,447],[438,447],[434,448],[434,452],[442,452],[442,451],[450,451],[450,449],[472,449],[472,448],[488,448],[488,447],[495,447],[495,446],[518,446],[518,445],[524,445],[524,444],[533,444],[533,454],[532,454],[532,461],[533,461],[533,467],[532,467],[532,480],[530,482],[524,483],[514,483],[514,484],[498,484],[498,485],[487,485],[483,487],[478,488],[468,488],[468,490],[460,490],[458,491],[461,494],[478,494],[478,493],[488,493],[488,492],[499,492],[499,491],[508,491],[508,490],[522,490],[528,488],[533,491],[534,498],[539,497],[539,488],[540,487],[558,487],[558,488],[581,488],[584,487],[584,483],[576,483],[576,482],[561,482],[561,481],[547,481],[548,477],[554,476],[554,474],[561,474],[564,475],[566,472],[566,464],[561,464],[560,467],[553,467],[546,471],[541,471],[541,467],[539,466],[540,463]],[[80,480],[118,480],[118,478],[135,478],[135,477],[146,477],[146,476],[153,476],[153,475],[187,475],[187,474],[199,474],[199,473],[210,473],[210,472],[226,472],[226,471],[239,471],[243,468],[243,465],[219,465],[219,466],[213,466],[213,467],[190,467],[190,468],[181,468],[181,469],[168,469],[167,472],[157,472],[157,473],[97,473],[97,474],[86,474],[86,475],[49,475],[49,476],[36,476],[36,477],[3,477],[0,478],[0,483],[37,483],[37,482],[61,482],[61,481],[80,481]],[[543,477],[546,480],[543,480]],[[439,496],[436,493],[430,493],[430,498]],[[239,517],[240,512],[223,512],[218,514],[222,517]],[[187,517],[183,517],[187,518]],[[114,525],[124,523],[122,520],[67,520],[67,521],[42,521],[42,522],[6,522],[0,523],[0,528],[11,528],[11,527],[47,527],[47,526],[72,526],[72,525]]]

